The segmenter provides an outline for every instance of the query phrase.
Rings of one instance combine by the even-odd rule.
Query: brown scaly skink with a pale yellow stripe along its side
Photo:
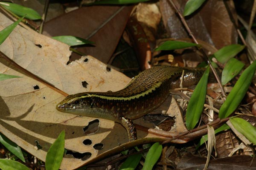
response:
[[[180,87],[182,74],[182,86],[188,87],[197,84],[204,71],[204,68],[155,66],[141,72],[120,91],[69,95],[58,103],[56,109],[118,122],[127,130],[129,141],[133,141],[137,139],[137,133],[131,120],[158,108],[169,96],[171,89]]]

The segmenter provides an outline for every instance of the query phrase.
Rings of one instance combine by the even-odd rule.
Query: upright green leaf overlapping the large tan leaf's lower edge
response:
[[[52,146],[49,148],[46,159],[46,170],[58,170],[64,155],[65,131],[63,130]]]

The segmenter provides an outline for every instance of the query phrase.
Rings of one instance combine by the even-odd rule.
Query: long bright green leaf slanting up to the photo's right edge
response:
[[[227,96],[227,99],[222,104],[219,111],[220,119],[230,116],[230,114],[233,113],[239,106],[240,102],[244,98],[244,95],[246,94],[247,89],[250,86],[255,70],[256,60],[244,70],[235,86],[230,91],[230,94]]]

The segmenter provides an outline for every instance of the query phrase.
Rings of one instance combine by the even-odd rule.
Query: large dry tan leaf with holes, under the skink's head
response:
[[[0,23],[3,29],[12,21],[0,14]],[[113,69],[108,71],[105,64],[90,56],[67,65],[68,45],[20,26],[0,46],[0,51],[68,94],[117,91],[130,81]],[[65,148],[79,159],[65,155],[61,169],[79,167],[128,142],[126,130],[118,123],[56,111],[55,105],[64,99],[63,95],[24,75],[3,58],[0,62],[0,73],[22,77],[0,82],[0,132],[32,155],[44,161],[47,150],[62,130],[66,132]],[[82,82],[87,82],[87,88]],[[141,125],[143,120],[136,123]],[[147,133],[138,130],[138,138],[146,136]],[[154,140],[159,139],[151,141]],[[119,147],[119,151],[123,149]]]

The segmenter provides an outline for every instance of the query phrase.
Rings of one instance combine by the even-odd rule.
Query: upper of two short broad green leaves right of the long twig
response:
[[[229,59],[235,57],[240,51],[244,49],[244,45],[232,44],[221,48],[219,51],[213,54],[218,62],[225,64]]]

